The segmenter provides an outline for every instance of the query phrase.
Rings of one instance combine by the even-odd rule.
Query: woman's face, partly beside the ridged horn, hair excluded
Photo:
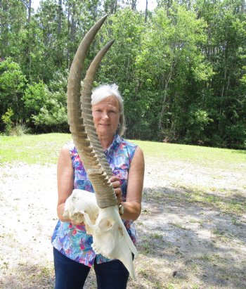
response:
[[[98,136],[112,137],[119,124],[119,101],[115,96],[108,96],[92,105],[92,115]]]

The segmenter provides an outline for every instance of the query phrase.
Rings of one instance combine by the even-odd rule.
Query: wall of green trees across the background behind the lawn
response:
[[[246,148],[246,14],[241,1],[43,0],[0,5],[0,117],[67,131],[67,75],[84,34],[108,13],[85,69],[110,39],[95,85],[117,83],[129,138]],[[0,131],[6,124],[0,118]]]

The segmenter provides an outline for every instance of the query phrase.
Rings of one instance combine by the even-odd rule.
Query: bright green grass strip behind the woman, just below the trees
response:
[[[55,164],[60,148],[71,140],[70,134],[37,134],[26,136],[0,136],[0,164],[27,162],[29,164]],[[238,167],[246,163],[246,150],[187,146],[175,143],[133,141],[143,149],[148,158],[159,161],[180,160],[193,165]]]

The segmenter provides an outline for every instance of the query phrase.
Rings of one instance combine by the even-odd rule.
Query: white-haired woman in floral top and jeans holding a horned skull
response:
[[[91,96],[93,122],[114,176],[110,178],[117,196],[119,214],[131,240],[136,242],[133,221],[141,213],[144,160],[141,148],[119,135],[124,133],[123,100],[113,84],[98,87]],[[58,159],[58,224],[52,244],[56,272],[56,289],[83,288],[94,266],[98,288],[127,288],[129,272],[119,260],[96,255],[91,248],[92,236],[84,224],[63,218],[65,200],[74,188],[93,192],[77,149],[69,143]]]

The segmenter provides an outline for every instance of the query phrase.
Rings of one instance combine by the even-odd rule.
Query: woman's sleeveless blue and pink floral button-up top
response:
[[[68,143],[67,148],[70,150],[72,166],[74,167],[74,188],[93,192],[93,187],[85,172],[74,143]],[[122,139],[117,134],[115,134],[110,147],[105,150],[105,156],[113,174],[119,176],[122,186],[123,201],[125,201],[127,197],[128,172],[135,150],[136,145]],[[124,220],[124,225],[126,226],[131,240],[133,243],[136,243],[136,231],[133,221]],[[84,226],[74,226],[71,223],[59,220],[53,231],[51,242],[53,247],[63,255],[79,263],[85,264],[86,266],[93,266],[95,259],[97,263],[110,261],[110,259],[107,259],[102,255],[96,255],[92,250],[91,244],[93,243],[93,237],[86,234]]]

